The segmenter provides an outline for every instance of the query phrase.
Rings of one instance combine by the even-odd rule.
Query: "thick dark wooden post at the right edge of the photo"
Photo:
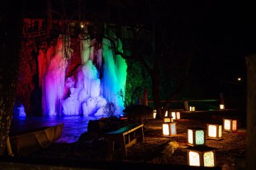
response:
[[[247,169],[256,169],[256,55],[246,57],[247,64]]]

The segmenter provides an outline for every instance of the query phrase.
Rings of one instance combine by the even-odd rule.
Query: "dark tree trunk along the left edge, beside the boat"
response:
[[[18,52],[23,24],[22,1],[1,2],[0,11],[0,155],[3,155],[16,94]]]

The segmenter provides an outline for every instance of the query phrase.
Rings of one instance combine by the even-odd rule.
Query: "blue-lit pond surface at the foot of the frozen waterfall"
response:
[[[21,130],[30,130],[33,128],[40,128],[43,126],[57,125],[64,123],[63,134],[58,142],[76,142],[83,132],[87,132],[87,125],[89,120],[96,120],[100,117],[88,116],[65,116],[65,117],[33,117],[33,118],[13,118],[11,122],[10,135]]]

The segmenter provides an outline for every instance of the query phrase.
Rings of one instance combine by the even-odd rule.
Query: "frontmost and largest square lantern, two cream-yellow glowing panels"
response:
[[[215,161],[215,149],[214,147],[208,146],[196,146],[188,147],[188,165],[189,166],[205,166],[214,167]]]

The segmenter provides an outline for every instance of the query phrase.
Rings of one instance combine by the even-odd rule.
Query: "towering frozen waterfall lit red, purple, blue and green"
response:
[[[121,41],[117,44],[122,50]],[[80,40],[80,66],[72,76],[65,77],[70,39],[58,38],[45,77],[42,100],[45,115],[103,115],[102,107],[107,101],[114,102],[117,114],[121,114],[124,103],[117,92],[124,90],[127,64],[121,56],[113,55],[111,47],[110,40],[104,38],[102,44],[90,38]],[[47,54],[53,55],[53,48]],[[46,55],[46,58],[51,57]]]

